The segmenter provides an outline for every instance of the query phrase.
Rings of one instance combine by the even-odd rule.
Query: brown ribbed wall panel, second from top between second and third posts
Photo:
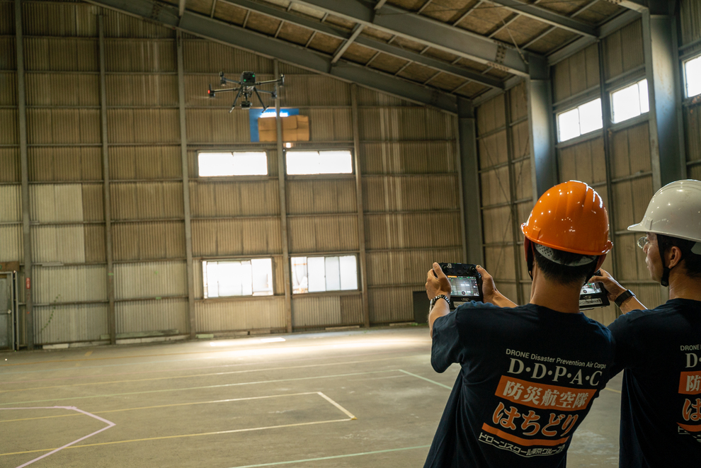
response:
[[[106,40],[107,72],[176,72],[175,40]]]

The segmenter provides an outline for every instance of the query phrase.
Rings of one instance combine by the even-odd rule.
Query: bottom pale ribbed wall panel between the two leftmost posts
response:
[[[99,341],[108,333],[107,304],[34,306],[34,343]]]

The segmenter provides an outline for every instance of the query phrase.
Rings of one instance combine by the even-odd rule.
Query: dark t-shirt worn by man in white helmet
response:
[[[701,463],[701,302],[671,299],[609,325],[625,367],[620,467]],[[695,460],[689,464],[691,460]]]

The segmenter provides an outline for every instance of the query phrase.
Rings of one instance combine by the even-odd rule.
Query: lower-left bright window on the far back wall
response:
[[[205,299],[273,295],[273,261],[270,258],[203,261],[202,278]]]

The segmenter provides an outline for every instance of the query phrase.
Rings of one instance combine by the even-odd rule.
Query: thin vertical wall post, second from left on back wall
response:
[[[102,139],[102,179],[103,207],[105,212],[105,253],[107,257],[107,330],[110,344],[117,343],[117,326],[115,319],[115,268],[112,249],[112,202],[110,200],[110,156],[107,140],[107,83],[105,67],[105,22],[104,14],[98,15],[98,34],[100,47],[100,123]]]

